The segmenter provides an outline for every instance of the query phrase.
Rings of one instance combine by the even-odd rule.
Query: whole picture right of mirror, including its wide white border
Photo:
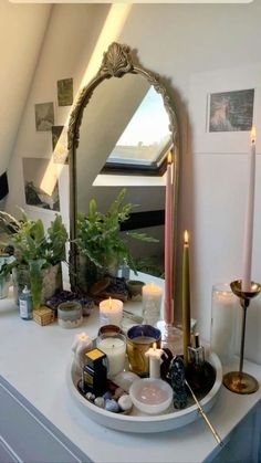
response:
[[[248,152],[252,125],[261,125],[261,64],[194,74],[189,126],[195,154]],[[257,137],[257,152],[261,140]]]

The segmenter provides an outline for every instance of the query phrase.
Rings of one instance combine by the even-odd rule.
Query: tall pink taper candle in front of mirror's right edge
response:
[[[168,155],[165,202],[165,322],[173,322],[173,158]]]

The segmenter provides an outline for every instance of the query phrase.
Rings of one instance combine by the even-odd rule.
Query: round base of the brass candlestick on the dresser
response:
[[[259,389],[257,379],[248,373],[230,371],[223,376],[223,386],[232,392],[247,394]]]

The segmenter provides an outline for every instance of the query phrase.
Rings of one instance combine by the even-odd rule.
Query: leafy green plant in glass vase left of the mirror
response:
[[[7,233],[7,243],[13,250],[13,262],[1,273],[13,273],[17,297],[24,285],[31,288],[33,307],[38,308],[62,288],[61,262],[65,261],[67,232],[59,214],[44,231],[41,219],[29,220],[22,211],[21,220],[0,211],[0,230]]]

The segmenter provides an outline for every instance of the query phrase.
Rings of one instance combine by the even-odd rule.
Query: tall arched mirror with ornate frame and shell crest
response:
[[[92,198],[95,198],[98,210],[105,212],[122,187],[126,187],[126,202],[139,204],[129,223],[124,224],[125,230],[142,229],[158,239],[157,244],[135,243],[130,253],[134,259],[137,256],[142,261],[153,257],[158,274],[161,274],[164,160],[171,149],[175,156],[175,219],[177,122],[166,90],[155,75],[133,64],[127,46],[112,44],[104,55],[100,72],[82,91],[71,116],[69,148],[72,286],[77,287],[79,260],[74,245],[77,212],[86,214]],[[108,165],[114,166],[109,175]],[[134,170],[126,170],[123,175],[123,166],[119,165],[138,166],[138,176],[134,175]]]

